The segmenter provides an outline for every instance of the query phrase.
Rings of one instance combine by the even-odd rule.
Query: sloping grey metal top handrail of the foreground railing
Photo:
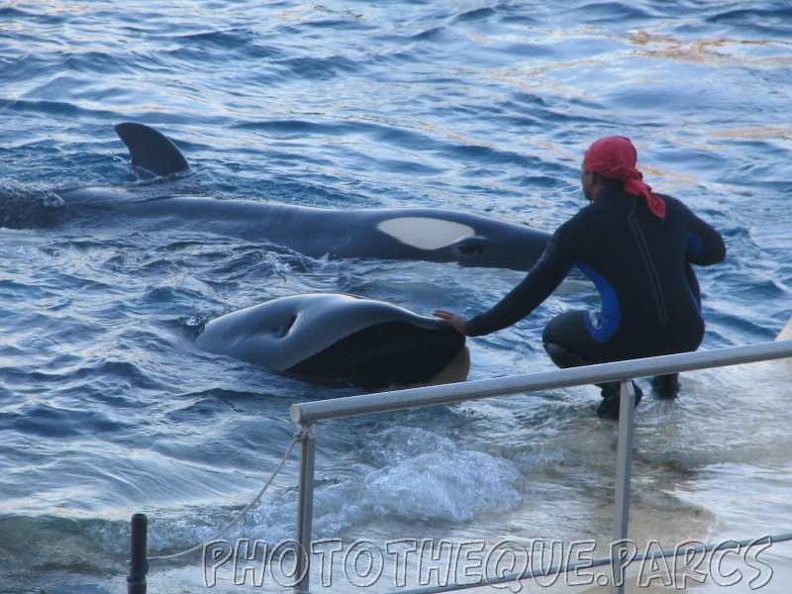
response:
[[[600,363],[440,386],[377,392],[331,400],[315,400],[292,404],[290,413],[295,423],[305,424],[326,419],[453,404],[517,392],[623,381],[635,377],[756,363],[787,357],[792,357],[792,340],[630,359],[615,363]]]

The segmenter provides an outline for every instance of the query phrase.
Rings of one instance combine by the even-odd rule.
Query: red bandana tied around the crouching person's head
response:
[[[652,194],[652,188],[643,182],[643,175],[635,168],[638,153],[626,136],[608,136],[596,140],[586,151],[583,168],[611,179],[624,180],[624,191],[632,196],[642,196],[655,216],[665,218],[665,201]]]

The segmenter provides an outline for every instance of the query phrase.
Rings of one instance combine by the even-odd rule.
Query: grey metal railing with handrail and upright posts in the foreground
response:
[[[302,551],[311,550],[315,462],[315,436],[311,426],[314,423],[327,419],[384,413],[440,404],[456,404],[467,400],[494,396],[612,381],[621,383],[613,537],[614,542],[624,542],[627,539],[629,529],[630,475],[632,471],[632,440],[635,414],[633,406],[635,396],[630,380],[636,377],[665,375],[788,357],[792,357],[792,340],[293,404],[291,406],[291,418],[303,428],[297,518],[298,544]],[[609,562],[617,563],[620,558],[624,559],[624,556],[620,555],[618,550],[615,553],[608,560]],[[310,557],[308,554],[298,555],[297,557],[298,567],[296,571],[301,578],[296,585],[296,591],[306,593],[309,592],[310,587]],[[507,576],[497,580],[490,580],[488,583],[515,581],[521,577],[524,576]],[[451,591],[456,588],[444,587],[434,591]],[[615,584],[613,591],[621,594],[623,588],[623,584]]]

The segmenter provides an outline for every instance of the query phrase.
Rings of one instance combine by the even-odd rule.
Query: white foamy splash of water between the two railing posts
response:
[[[347,469],[350,476],[316,493],[315,529],[338,535],[350,526],[387,517],[407,522],[466,522],[522,500],[516,465],[453,439],[416,427],[381,433],[369,452],[373,466]]]

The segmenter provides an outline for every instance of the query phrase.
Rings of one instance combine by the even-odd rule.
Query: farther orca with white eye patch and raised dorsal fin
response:
[[[153,128],[122,123],[116,132],[135,166],[157,175],[189,168],[178,148]],[[165,228],[200,224],[202,230],[266,240],[316,258],[427,260],[530,270],[549,240],[547,233],[525,225],[440,209],[335,210],[203,196],[141,198],[133,190],[108,188],[60,195],[67,205],[118,205],[132,216],[158,219]]]

